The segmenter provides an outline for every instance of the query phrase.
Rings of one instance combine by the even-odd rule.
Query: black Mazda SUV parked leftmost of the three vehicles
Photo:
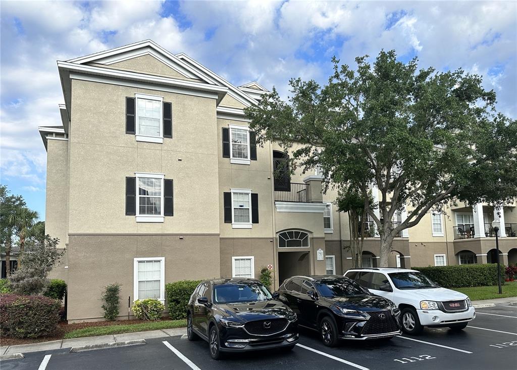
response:
[[[298,343],[295,312],[258,280],[206,280],[187,307],[187,335],[209,344],[210,356],[270,348],[291,350]]]

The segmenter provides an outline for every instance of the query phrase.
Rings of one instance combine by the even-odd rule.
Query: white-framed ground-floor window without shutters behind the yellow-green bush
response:
[[[153,298],[165,301],[165,258],[134,259],[134,300]]]

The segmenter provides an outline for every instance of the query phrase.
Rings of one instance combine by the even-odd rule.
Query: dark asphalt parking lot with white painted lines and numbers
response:
[[[1,363],[9,369],[510,369],[517,368],[517,306],[476,309],[477,317],[459,333],[428,329],[416,337],[388,342],[341,342],[325,347],[302,331],[289,353],[261,351],[214,361],[204,341],[182,337],[146,339],[139,346],[70,353],[69,349],[26,353]]]

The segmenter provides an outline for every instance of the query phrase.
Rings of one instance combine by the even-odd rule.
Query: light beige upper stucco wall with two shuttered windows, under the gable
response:
[[[172,102],[172,139],[126,134],[125,97],[135,93]],[[219,232],[215,99],[73,80],[72,106],[70,232]],[[134,172],[174,180],[173,217],[125,215],[125,178]]]

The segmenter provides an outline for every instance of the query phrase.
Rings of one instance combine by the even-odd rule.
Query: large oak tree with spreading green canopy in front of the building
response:
[[[292,168],[319,166],[325,181],[380,191],[381,267],[395,235],[447,203],[503,204],[517,196],[517,121],[495,110],[496,94],[462,69],[418,69],[381,51],[370,64],[339,65],[326,85],[290,80],[291,96],[271,94],[250,108],[258,143],[277,141]],[[391,219],[404,206],[407,218]]]

